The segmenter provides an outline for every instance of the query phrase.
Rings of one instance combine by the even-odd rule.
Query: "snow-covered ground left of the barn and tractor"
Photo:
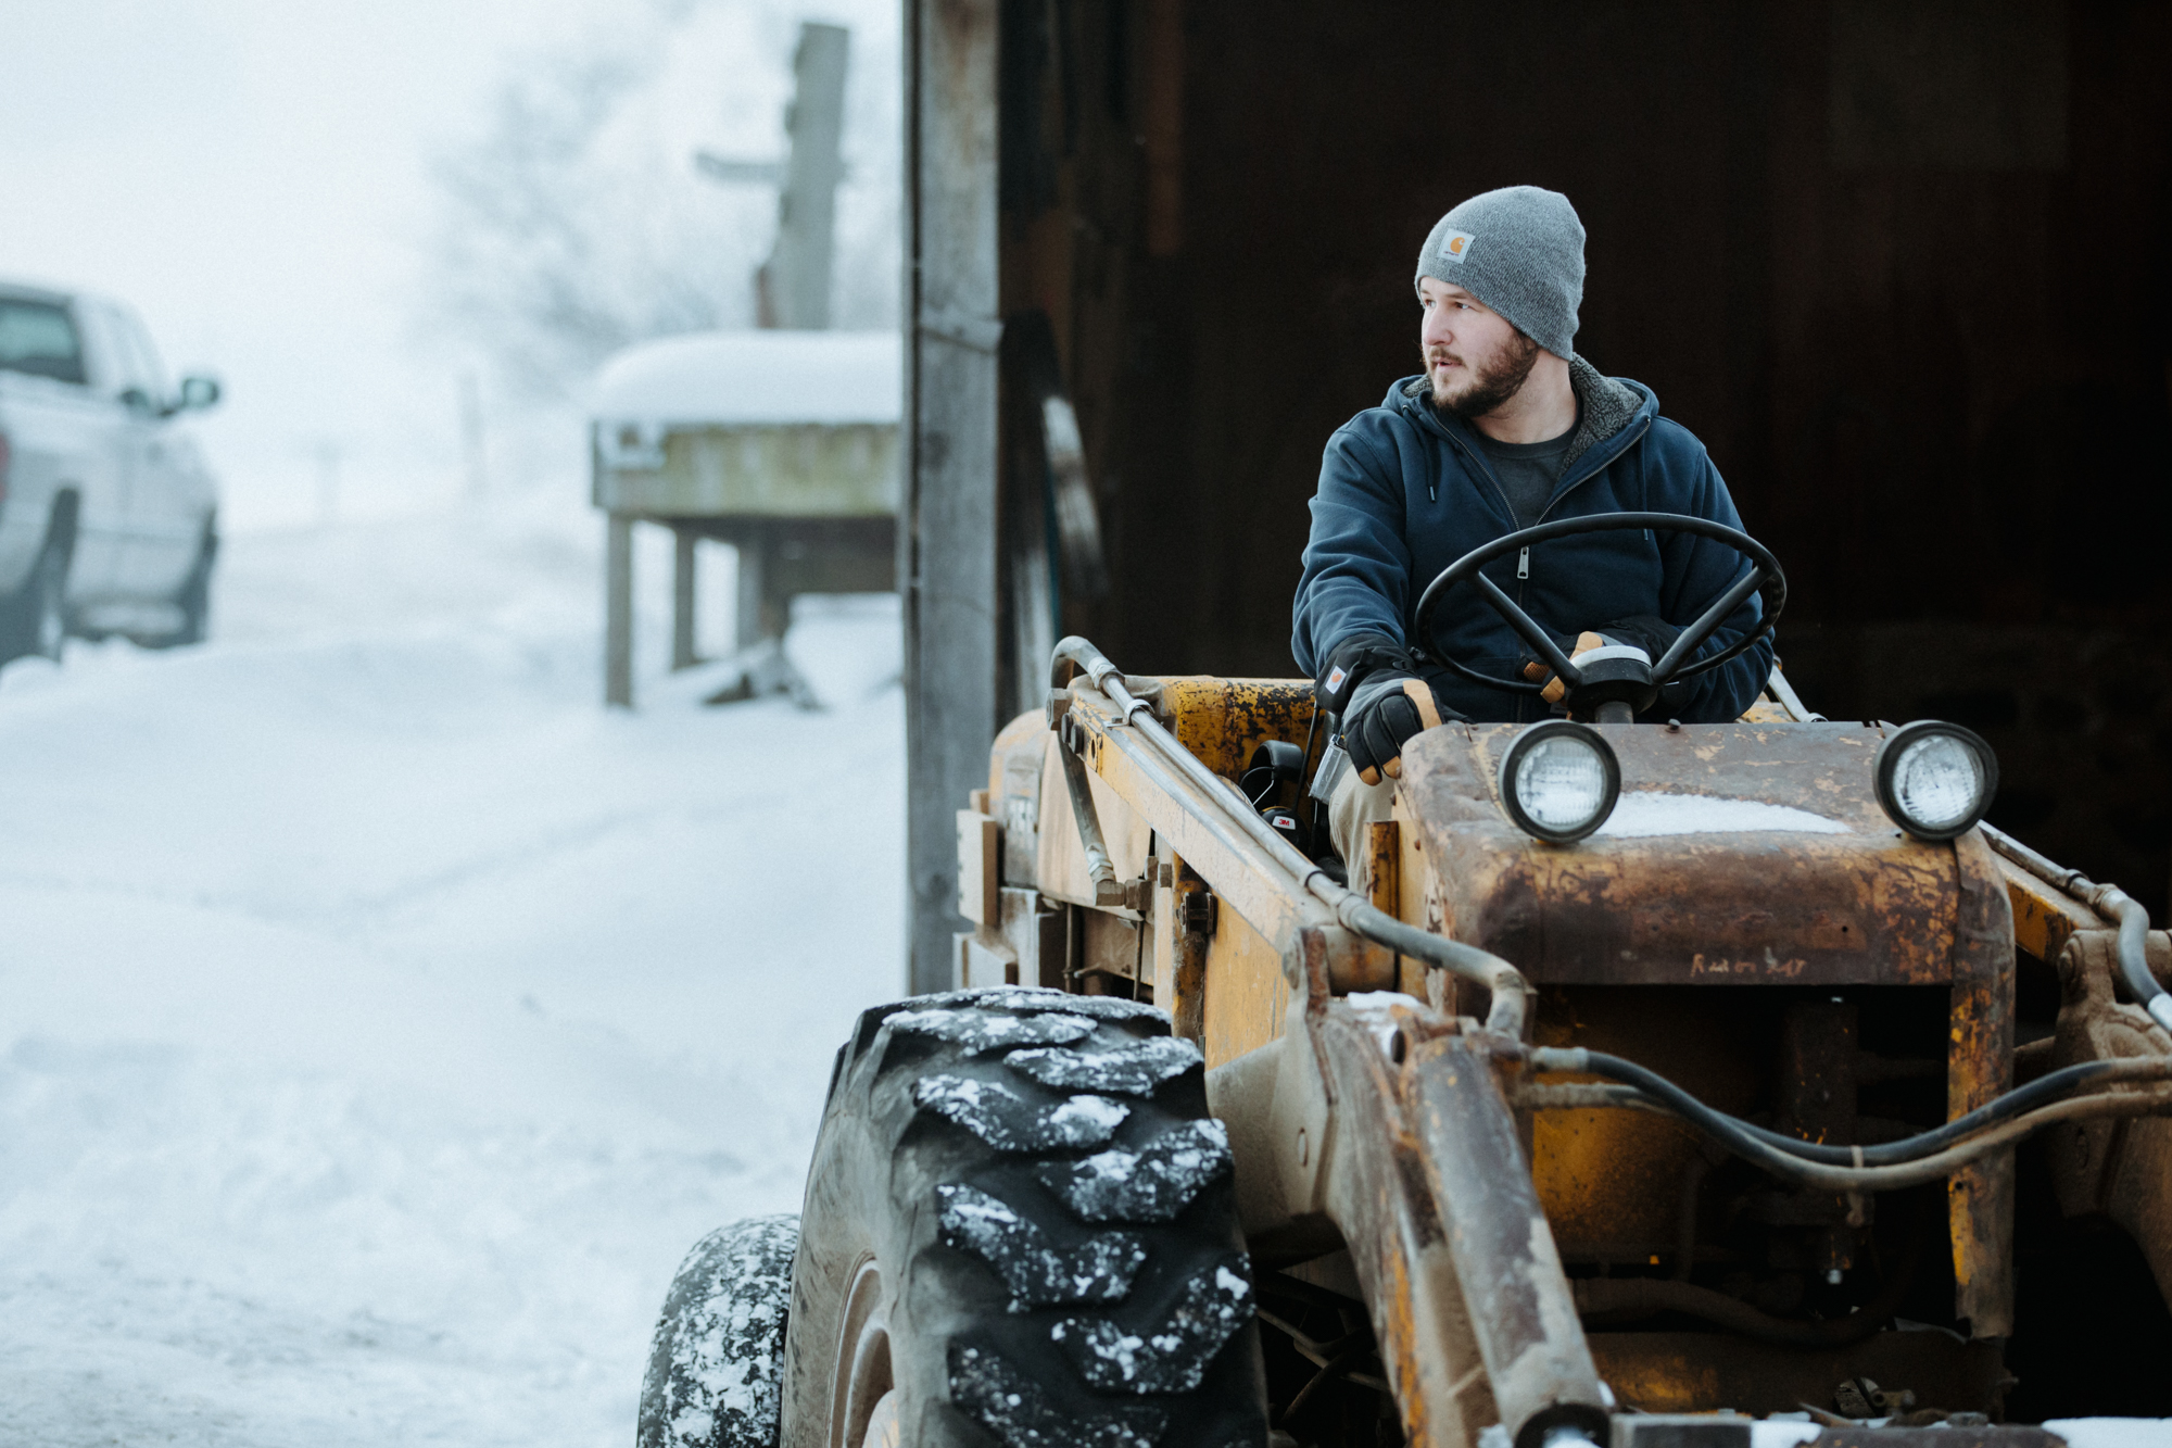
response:
[[[241,537],[213,644],[0,674],[0,1441],[623,1448],[797,1207],[901,994],[895,602],[804,600],[823,711],[613,715],[597,535]]]

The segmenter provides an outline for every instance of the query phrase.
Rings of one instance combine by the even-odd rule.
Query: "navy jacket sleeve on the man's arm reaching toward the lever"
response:
[[[1344,426],[1321,457],[1290,631],[1290,652],[1305,674],[1316,676],[1336,646],[1360,633],[1405,641],[1403,478],[1392,450],[1381,450],[1381,439]]]

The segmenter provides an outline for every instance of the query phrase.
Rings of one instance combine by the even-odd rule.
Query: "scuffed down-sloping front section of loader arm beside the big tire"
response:
[[[1494,1422],[1516,1448],[1605,1441],[1494,1046],[1434,1011],[1316,996],[1279,1041],[1210,1072],[1208,1102],[1255,1250],[1349,1246],[1410,1444],[1468,1448]]]

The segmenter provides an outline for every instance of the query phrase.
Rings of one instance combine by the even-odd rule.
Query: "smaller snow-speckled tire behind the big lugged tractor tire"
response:
[[[797,1246],[799,1218],[747,1218],[686,1252],[649,1346],[636,1448],[778,1448]]]

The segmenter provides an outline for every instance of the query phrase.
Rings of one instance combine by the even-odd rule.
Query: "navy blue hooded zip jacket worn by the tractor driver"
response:
[[[1570,363],[1577,435],[1542,522],[1592,513],[1688,513],[1740,528],[1727,485],[1705,446],[1659,415],[1642,383],[1607,378],[1581,357]],[[1321,459],[1312,498],[1312,539],[1297,585],[1290,648],[1299,667],[1318,674],[1353,633],[1412,639],[1412,613],[1425,585],[1455,559],[1516,530],[1507,494],[1477,437],[1434,409],[1423,376],[1403,378],[1388,398],[1342,424]],[[1516,557],[1486,565],[1501,589],[1551,631],[1564,652],[1583,631],[1638,615],[1677,628],[1694,622],[1748,561],[1727,544],[1685,533],[1590,533],[1531,548],[1529,578]],[[1753,594],[1705,641],[1716,654],[1757,626]],[[1462,659],[1494,678],[1520,678],[1531,650],[1470,585],[1449,594],[1425,639],[1434,657]],[[1668,689],[1651,717],[1725,722],[1755,702],[1772,672],[1772,639]],[[1488,689],[1449,670],[1427,670],[1434,694],[1473,720],[1546,717],[1533,694]]]

